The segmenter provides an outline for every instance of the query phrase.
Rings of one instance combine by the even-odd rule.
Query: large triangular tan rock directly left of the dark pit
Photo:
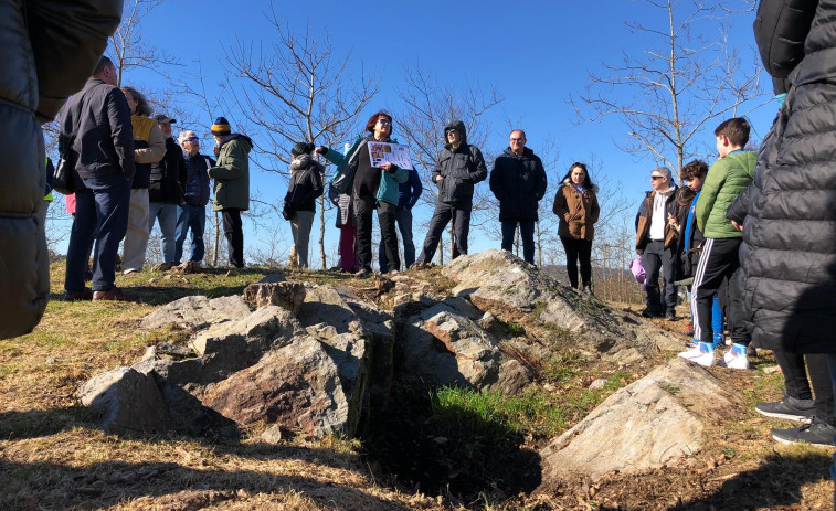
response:
[[[317,436],[353,435],[360,411],[351,405],[357,405],[363,391],[362,384],[356,385],[364,377],[363,364],[357,360],[363,355],[363,342],[341,338],[329,347],[309,337],[298,338],[215,385],[203,396],[203,404],[239,424],[277,424]],[[352,369],[342,370],[345,376],[353,376],[349,385],[341,381],[335,352],[340,352],[343,362],[353,359]]]

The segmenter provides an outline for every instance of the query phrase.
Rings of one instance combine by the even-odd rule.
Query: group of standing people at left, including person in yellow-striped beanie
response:
[[[244,266],[241,212],[250,205],[248,160],[253,143],[233,134],[219,117],[212,125],[213,158],[200,153],[200,138],[182,130],[174,141],[177,120],[151,117],[145,96],[133,87],[117,87],[117,71],[103,56],[84,88],[59,113],[59,150],[73,162],[74,194],[67,201],[73,226],[67,248],[65,300],[135,300],[115,285],[119,244],[121,270],[140,272],[155,223],[162,233],[160,269],[180,264],[191,232],[190,262],[204,255],[205,206],[214,180],[213,210],[222,212],[229,260]],[[93,252],[91,288],[85,268]]]

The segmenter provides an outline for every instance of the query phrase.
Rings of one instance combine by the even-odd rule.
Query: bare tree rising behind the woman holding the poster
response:
[[[349,75],[349,56],[334,54],[329,34],[295,32],[276,15],[271,2],[267,20],[276,31],[276,42],[255,44],[239,41],[225,55],[233,78],[230,85],[244,116],[262,135],[255,150],[266,157],[262,169],[289,178],[289,148],[300,140],[331,146],[345,141],[357,116],[378,93],[378,81],[360,72]],[[325,252],[325,211],[319,199],[319,255]]]

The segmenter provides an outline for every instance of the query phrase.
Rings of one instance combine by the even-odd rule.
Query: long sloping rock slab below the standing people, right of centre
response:
[[[453,295],[506,322],[536,327],[530,334],[549,348],[572,347],[623,364],[682,348],[675,336],[575,292],[506,251],[458,257],[442,274],[456,283]]]

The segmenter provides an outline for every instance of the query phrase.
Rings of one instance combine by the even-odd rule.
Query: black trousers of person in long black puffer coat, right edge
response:
[[[781,372],[784,374],[786,395],[796,400],[811,400],[815,393],[816,416],[827,420],[828,424],[833,424],[833,383],[827,369],[827,355],[791,353],[780,350],[775,350],[774,354],[779,366],[781,366]],[[804,368],[805,359],[807,362],[806,370]],[[807,371],[809,371],[809,382],[807,382]],[[813,385],[812,392],[811,384]]]

